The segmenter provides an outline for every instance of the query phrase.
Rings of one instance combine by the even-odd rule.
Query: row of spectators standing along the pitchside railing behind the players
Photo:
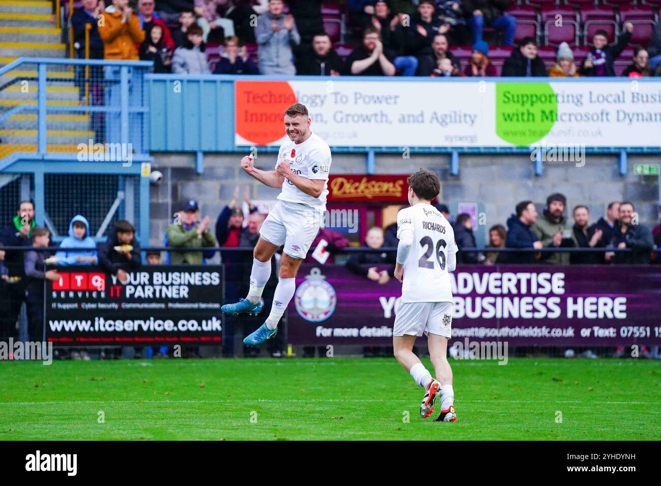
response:
[[[247,215],[241,208],[243,202],[237,188],[232,200],[217,216],[214,231],[210,227],[210,217],[201,217],[195,200],[182,202],[175,220],[168,225],[164,235],[165,247],[173,251],[165,252],[165,259],[161,258],[161,252],[149,251],[145,256],[146,263],[204,264],[214,257],[214,247],[253,249],[264,222],[264,214],[253,205],[247,190],[244,200],[249,208]],[[522,201],[508,218],[507,227],[497,224],[489,228],[486,249],[483,245],[477,245],[473,234],[473,219],[469,214],[459,214],[452,220],[446,204],[435,204],[452,222],[459,248],[457,262],[461,264],[661,263],[654,258],[654,249],[661,245],[661,222],[650,231],[646,225],[638,222],[635,206],[629,201],[611,202],[603,216],[592,224],[590,212],[583,204],[574,206],[570,216],[567,216],[567,200],[560,193],[551,194],[547,198],[541,215],[537,213],[535,203]],[[21,201],[16,216],[0,232],[0,248],[25,247],[26,250],[0,249],[0,301],[3,302],[0,307],[4,313],[0,321],[16,323],[20,307],[25,303],[30,335],[38,335],[36,330],[40,329],[40,323],[43,322],[44,280],[59,280],[58,272],[51,265],[98,264],[105,272],[116,275],[120,282],[126,283],[127,272],[136,270],[142,264],[136,231],[132,223],[126,220],[117,221],[108,232],[106,241],[97,243],[90,236],[85,216],[75,215],[69,224],[68,237],[59,243],[62,250],[54,251],[50,244],[50,231],[37,226],[34,218],[34,204],[29,200]],[[332,256],[342,253],[342,249],[350,245],[344,235],[322,228],[311,249],[315,249],[322,239],[329,243],[327,251]],[[371,227],[366,233],[364,247],[369,251],[350,255],[346,259],[346,268],[376,284],[387,283],[393,276],[397,223],[385,229]],[[534,251],[567,247],[597,248],[603,251]],[[177,248],[182,251],[176,251]],[[384,250],[379,251],[382,248]],[[500,252],[498,249],[527,251]],[[615,252],[614,249],[630,251]],[[237,298],[243,291],[239,287],[241,282],[247,280],[252,253],[221,250],[220,254],[228,276],[226,292],[231,294],[226,298],[232,300],[232,297]],[[274,285],[276,279],[272,280],[270,284]],[[228,319],[226,325],[231,326],[231,320]],[[5,325],[0,335],[13,335],[13,332]]]

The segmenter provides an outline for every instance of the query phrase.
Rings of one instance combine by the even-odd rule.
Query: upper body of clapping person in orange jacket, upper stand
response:
[[[98,19],[98,34],[108,60],[137,61],[136,44],[145,40],[140,20],[128,5],[128,0],[112,0]]]

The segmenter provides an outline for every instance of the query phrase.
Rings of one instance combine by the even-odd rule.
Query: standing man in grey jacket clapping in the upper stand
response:
[[[254,36],[262,74],[295,75],[292,45],[301,43],[292,15],[283,15],[282,0],[270,0],[268,12],[257,17]]]

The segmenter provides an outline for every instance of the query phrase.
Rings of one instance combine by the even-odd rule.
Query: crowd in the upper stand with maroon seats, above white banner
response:
[[[73,13],[78,56],[85,56],[89,24],[91,58],[153,61],[157,73],[661,75],[661,22],[642,4],[106,1],[82,0]]]

